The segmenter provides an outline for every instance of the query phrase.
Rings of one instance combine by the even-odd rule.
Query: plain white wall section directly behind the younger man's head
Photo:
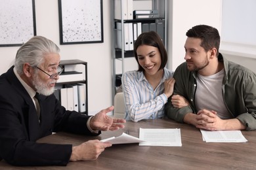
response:
[[[221,31],[222,0],[171,0],[168,18],[168,63],[173,71],[184,62],[186,31],[205,24]]]

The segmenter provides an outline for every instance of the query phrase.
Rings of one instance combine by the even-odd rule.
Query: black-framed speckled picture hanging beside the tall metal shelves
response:
[[[103,42],[102,0],[58,0],[60,44]]]

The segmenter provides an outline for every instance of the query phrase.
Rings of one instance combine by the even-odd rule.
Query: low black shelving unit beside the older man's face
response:
[[[70,81],[62,81],[57,82],[57,86],[64,86],[66,84],[77,84],[83,83],[85,84],[85,112],[81,112],[83,114],[88,115],[88,78],[87,78],[87,62],[81,61],[79,59],[68,59],[61,60],[60,66],[64,68],[63,73],[66,71],[79,71],[82,72],[83,78],[81,80],[70,80]]]

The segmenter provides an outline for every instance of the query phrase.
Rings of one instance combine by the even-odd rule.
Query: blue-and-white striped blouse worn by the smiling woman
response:
[[[167,96],[163,93],[164,82],[173,77],[173,71],[164,68],[163,78],[154,90],[143,72],[127,71],[122,76],[125,97],[125,120],[138,122],[143,119],[162,118]]]

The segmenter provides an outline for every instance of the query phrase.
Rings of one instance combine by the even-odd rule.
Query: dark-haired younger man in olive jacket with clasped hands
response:
[[[173,93],[186,97],[190,106],[176,109],[169,98],[165,114],[208,130],[256,129],[255,73],[223,58],[214,27],[196,25],[186,36],[186,62],[175,71]]]

